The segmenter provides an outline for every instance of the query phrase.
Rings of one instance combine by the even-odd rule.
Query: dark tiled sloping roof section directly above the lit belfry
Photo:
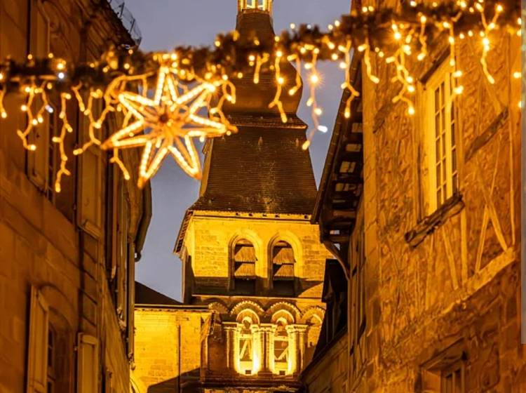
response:
[[[215,138],[204,192],[190,210],[311,214],[316,182],[304,141],[304,128],[250,126]]]

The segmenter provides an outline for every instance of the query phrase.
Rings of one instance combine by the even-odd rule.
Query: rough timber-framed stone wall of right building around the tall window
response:
[[[354,382],[357,391],[439,392],[433,378],[455,352],[466,392],[520,392],[520,85],[511,76],[520,70],[519,39],[492,36],[495,84],[480,65],[480,39],[457,42],[460,194],[426,227],[424,75],[448,50],[439,41],[429,60],[408,65],[414,116],[391,103],[400,88],[390,82],[393,65],[374,62],[378,85],[363,74],[367,371]]]

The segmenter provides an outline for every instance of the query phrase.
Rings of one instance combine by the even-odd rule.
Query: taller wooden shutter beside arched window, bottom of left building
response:
[[[31,288],[29,343],[27,346],[27,393],[46,393],[48,377],[48,317],[46,300]]]

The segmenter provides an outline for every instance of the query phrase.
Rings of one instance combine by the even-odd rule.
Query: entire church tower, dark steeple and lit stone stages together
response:
[[[274,41],[271,0],[238,0],[240,40]],[[296,71],[281,66],[285,88]],[[290,391],[309,362],[323,320],[321,287],[328,252],[310,216],[316,183],[301,89],[285,95],[288,122],[269,103],[276,76],[236,80],[225,107],[239,132],[205,145],[203,182],[187,211],[175,253],[183,261],[184,304],[213,311],[202,342],[205,392]],[[283,389],[283,390],[282,390]]]

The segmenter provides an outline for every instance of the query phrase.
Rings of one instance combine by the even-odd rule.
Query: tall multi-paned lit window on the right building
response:
[[[458,192],[457,116],[449,59],[426,83],[430,213]]]

